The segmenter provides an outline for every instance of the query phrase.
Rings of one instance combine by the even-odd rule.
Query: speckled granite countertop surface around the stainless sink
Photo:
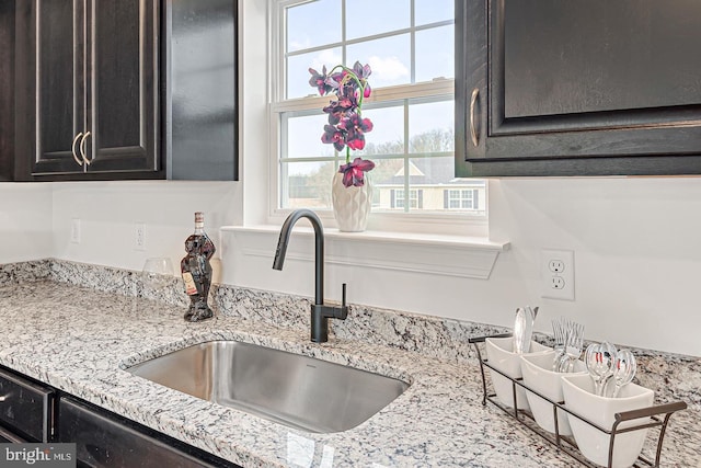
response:
[[[244,467],[574,464],[499,409],[482,406],[476,362],[460,365],[347,339],[313,344],[308,332],[234,317],[186,323],[181,307],[51,281],[3,286],[0,297],[0,364]],[[412,385],[353,430],[312,434],[124,370],[217,339],[349,364]],[[663,465],[697,466],[697,431],[673,425],[670,432],[676,434],[668,435]]]

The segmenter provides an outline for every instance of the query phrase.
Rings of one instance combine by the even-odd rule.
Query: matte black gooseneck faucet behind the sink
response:
[[[311,341],[324,343],[329,341],[329,319],[345,320],[348,316],[346,307],[346,284],[343,284],[341,307],[324,305],[324,228],[321,220],[311,209],[297,209],[285,219],[280,229],[280,237],[275,250],[274,270],[283,270],[287,243],[292,226],[300,218],[307,218],[314,228],[314,305],[311,306]]]

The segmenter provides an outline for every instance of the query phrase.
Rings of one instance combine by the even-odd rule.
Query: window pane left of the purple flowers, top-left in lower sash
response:
[[[284,158],[333,157],[333,145],[321,142],[326,114],[287,118],[287,150]],[[285,126],[283,125],[283,128]]]

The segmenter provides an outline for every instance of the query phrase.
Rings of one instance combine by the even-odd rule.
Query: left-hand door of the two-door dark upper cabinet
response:
[[[36,102],[27,102],[26,112],[35,113],[33,174],[84,171],[79,144],[85,132],[85,18],[76,4],[32,3]]]

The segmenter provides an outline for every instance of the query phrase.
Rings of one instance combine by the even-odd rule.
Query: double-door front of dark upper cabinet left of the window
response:
[[[16,82],[24,96],[16,149],[32,155],[27,172],[34,180],[162,178],[160,2],[19,4],[26,77]]]

